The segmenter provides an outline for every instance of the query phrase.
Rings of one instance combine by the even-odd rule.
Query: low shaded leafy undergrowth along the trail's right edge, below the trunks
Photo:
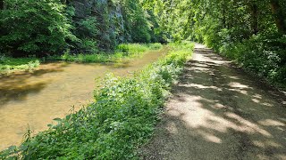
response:
[[[286,36],[258,35],[240,43],[222,44],[219,52],[249,72],[286,89],[285,44]]]

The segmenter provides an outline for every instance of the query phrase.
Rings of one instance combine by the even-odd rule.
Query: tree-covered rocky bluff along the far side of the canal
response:
[[[111,52],[122,43],[163,41],[139,0],[4,0],[0,54],[13,57]]]

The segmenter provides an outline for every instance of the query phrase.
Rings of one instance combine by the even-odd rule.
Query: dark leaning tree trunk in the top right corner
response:
[[[282,7],[279,4],[279,0],[270,0],[270,6],[278,30],[282,33],[286,33],[286,21],[284,17],[284,12],[282,12]]]

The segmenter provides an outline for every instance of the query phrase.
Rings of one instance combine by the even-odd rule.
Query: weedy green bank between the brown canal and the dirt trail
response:
[[[11,147],[0,158],[135,159],[136,149],[151,136],[160,108],[193,44],[171,44],[172,52],[131,77],[107,76],[95,102],[56,118],[46,132]]]

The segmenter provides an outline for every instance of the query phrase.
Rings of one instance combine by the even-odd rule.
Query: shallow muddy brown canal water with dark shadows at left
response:
[[[0,76],[0,150],[19,145],[28,128],[47,129],[56,117],[93,100],[95,78],[106,73],[128,76],[163,57],[167,49],[109,64],[49,63],[32,73]]]

